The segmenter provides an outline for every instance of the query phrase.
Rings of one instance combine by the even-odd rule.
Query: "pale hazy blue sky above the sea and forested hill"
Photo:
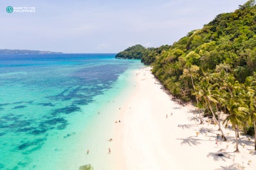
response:
[[[0,49],[118,53],[172,45],[247,0],[0,1]],[[6,7],[34,12],[7,13]],[[23,8],[25,9],[25,8]]]

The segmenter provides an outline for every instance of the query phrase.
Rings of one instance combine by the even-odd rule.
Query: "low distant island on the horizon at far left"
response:
[[[39,51],[29,49],[0,49],[0,55],[43,55],[43,54],[62,54],[61,52]]]

